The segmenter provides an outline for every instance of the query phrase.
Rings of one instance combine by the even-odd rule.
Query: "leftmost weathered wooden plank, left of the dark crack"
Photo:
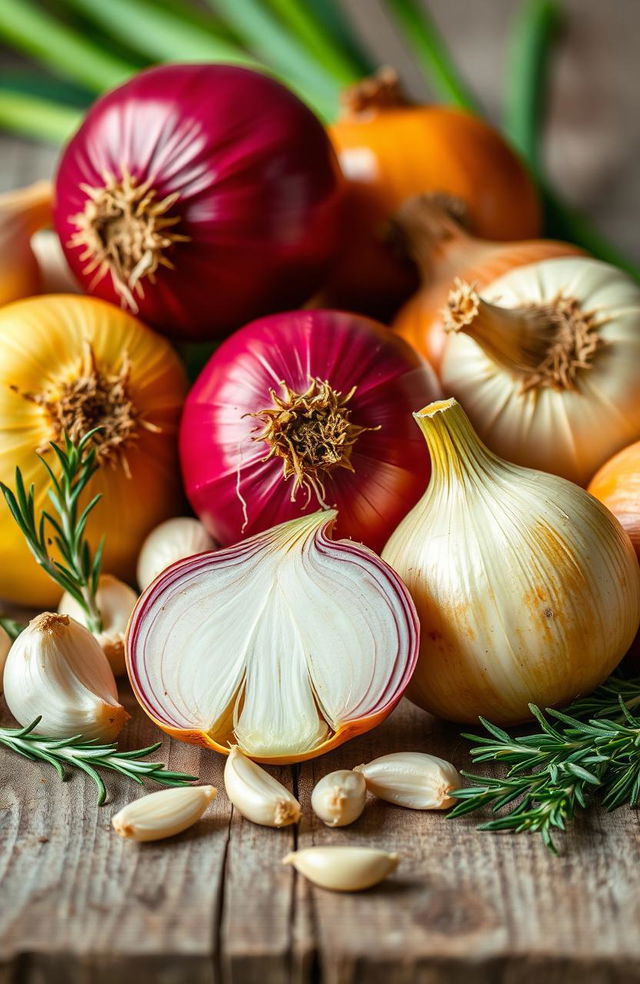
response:
[[[133,717],[123,747],[162,738],[130,694],[126,702]],[[218,756],[168,738],[157,754],[222,788]],[[229,838],[226,798],[170,845],[138,845],[115,835],[110,818],[141,790],[115,775],[108,784],[112,797],[100,809],[85,777],[74,774],[62,785],[46,765],[2,755],[0,961],[18,960],[20,980],[29,984],[55,980],[58,966],[60,981],[107,980],[120,967],[128,974],[135,968],[140,982],[171,984],[181,979],[184,958],[188,979],[210,984]]]

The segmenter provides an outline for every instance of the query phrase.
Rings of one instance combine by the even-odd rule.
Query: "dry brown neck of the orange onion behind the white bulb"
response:
[[[391,220],[397,250],[418,267],[423,283],[451,280],[460,269],[477,263],[489,244],[464,228],[467,206],[447,192],[416,195],[402,203]],[[491,247],[494,248],[494,247]]]

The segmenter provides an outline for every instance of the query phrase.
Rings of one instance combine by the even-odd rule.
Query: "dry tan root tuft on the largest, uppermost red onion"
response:
[[[159,267],[173,269],[171,247],[189,241],[175,232],[180,216],[172,209],[179,194],[160,199],[151,180],[138,183],[125,168],[120,178],[106,174],[101,188],[83,190],[88,197],[70,219],[76,227],[70,245],[83,250],[84,272],[95,273],[94,283],[111,274],[122,302],[137,311],[144,281],[153,283]]]

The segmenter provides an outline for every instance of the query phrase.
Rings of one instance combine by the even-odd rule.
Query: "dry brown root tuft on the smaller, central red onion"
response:
[[[303,393],[296,393],[282,383],[282,393],[270,390],[273,406],[249,414],[257,417],[263,428],[253,436],[269,448],[263,461],[282,460],[282,475],[293,479],[291,500],[300,488],[310,497],[315,493],[319,504],[325,502],[325,482],[338,468],[353,471],[351,455],[364,431],[351,420],[349,402],[356,387],[346,395],[337,392],[326,381],[312,379]],[[377,429],[377,428],[375,428]]]

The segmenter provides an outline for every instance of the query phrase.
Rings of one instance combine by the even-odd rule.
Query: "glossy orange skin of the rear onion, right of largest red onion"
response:
[[[493,127],[447,106],[411,105],[401,93],[395,105],[388,93],[379,104],[370,93],[366,105],[352,108],[346,96],[330,134],[347,177],[348,236],[327,303],[386,319],[417,289],[415,272],[384,241],[389,220],[414,195],[460,199],[469,228],[486,239],[538,235],[533,182]]]

